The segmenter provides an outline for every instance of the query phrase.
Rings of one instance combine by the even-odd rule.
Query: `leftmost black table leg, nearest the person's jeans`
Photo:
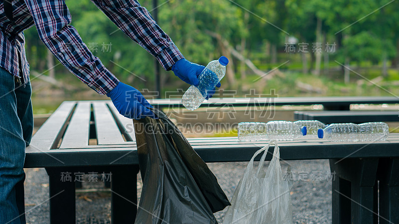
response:
[[[57,168],[46,168],[49,179],[50,223],[76,223],[75,215],[75,177],[71,181],[61,181],[61,173]]]

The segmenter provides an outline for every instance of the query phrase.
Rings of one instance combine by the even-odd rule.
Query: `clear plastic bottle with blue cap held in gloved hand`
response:
[[[205,69],[198,76],[200,84],[192,85],[183,95],[182,103],[188,110],[194,111],[200,107],[209,90],[213,90],[226,73],[228,59],[221,56],[219,60],[209,62]]]

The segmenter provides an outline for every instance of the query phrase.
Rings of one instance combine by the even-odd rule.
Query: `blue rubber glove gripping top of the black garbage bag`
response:
[[[118,85],[107,93],[118,112],[127,118],[141,119],[146,116],[156,118],[155,114],[147,108],[152,108],[150,103],[135,88],[119,82]]]

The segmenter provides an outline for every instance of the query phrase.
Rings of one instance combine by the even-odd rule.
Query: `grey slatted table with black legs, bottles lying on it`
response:
[[[205,162],[249,161],[268,143],[238,141],[236,137],[189,141]],[[399,222],[399,134],[382,142],[298,139],[279,145],[283,160],[330,159],[331,172],[337,177],[332,189],[333,223],[376,223],[377,180],[381,216]],[[132,120],[119,115],[110,101],[64,102],[26,148],[25,168],[44,167],[49,175],[50,222],[75,222],[76,172],[104,172],[112,173],[112,223],[133,223],[139,171],[136,149]],[[62,180],[65,173],[71,181]]]

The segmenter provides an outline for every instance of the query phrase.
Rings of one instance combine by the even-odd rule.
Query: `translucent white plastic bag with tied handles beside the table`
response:
[[[264,172],[263,164],[270,145],[274,145],[273,158]],[[262,151],[264,153],[255,171],[253,160]],[[267,146],[255,152],[235,189],[223,224],[292,224],[292,182],[283,179],[279,159],[276,140],[270,140]],[[287,172],[290,170],[288,166]]]

